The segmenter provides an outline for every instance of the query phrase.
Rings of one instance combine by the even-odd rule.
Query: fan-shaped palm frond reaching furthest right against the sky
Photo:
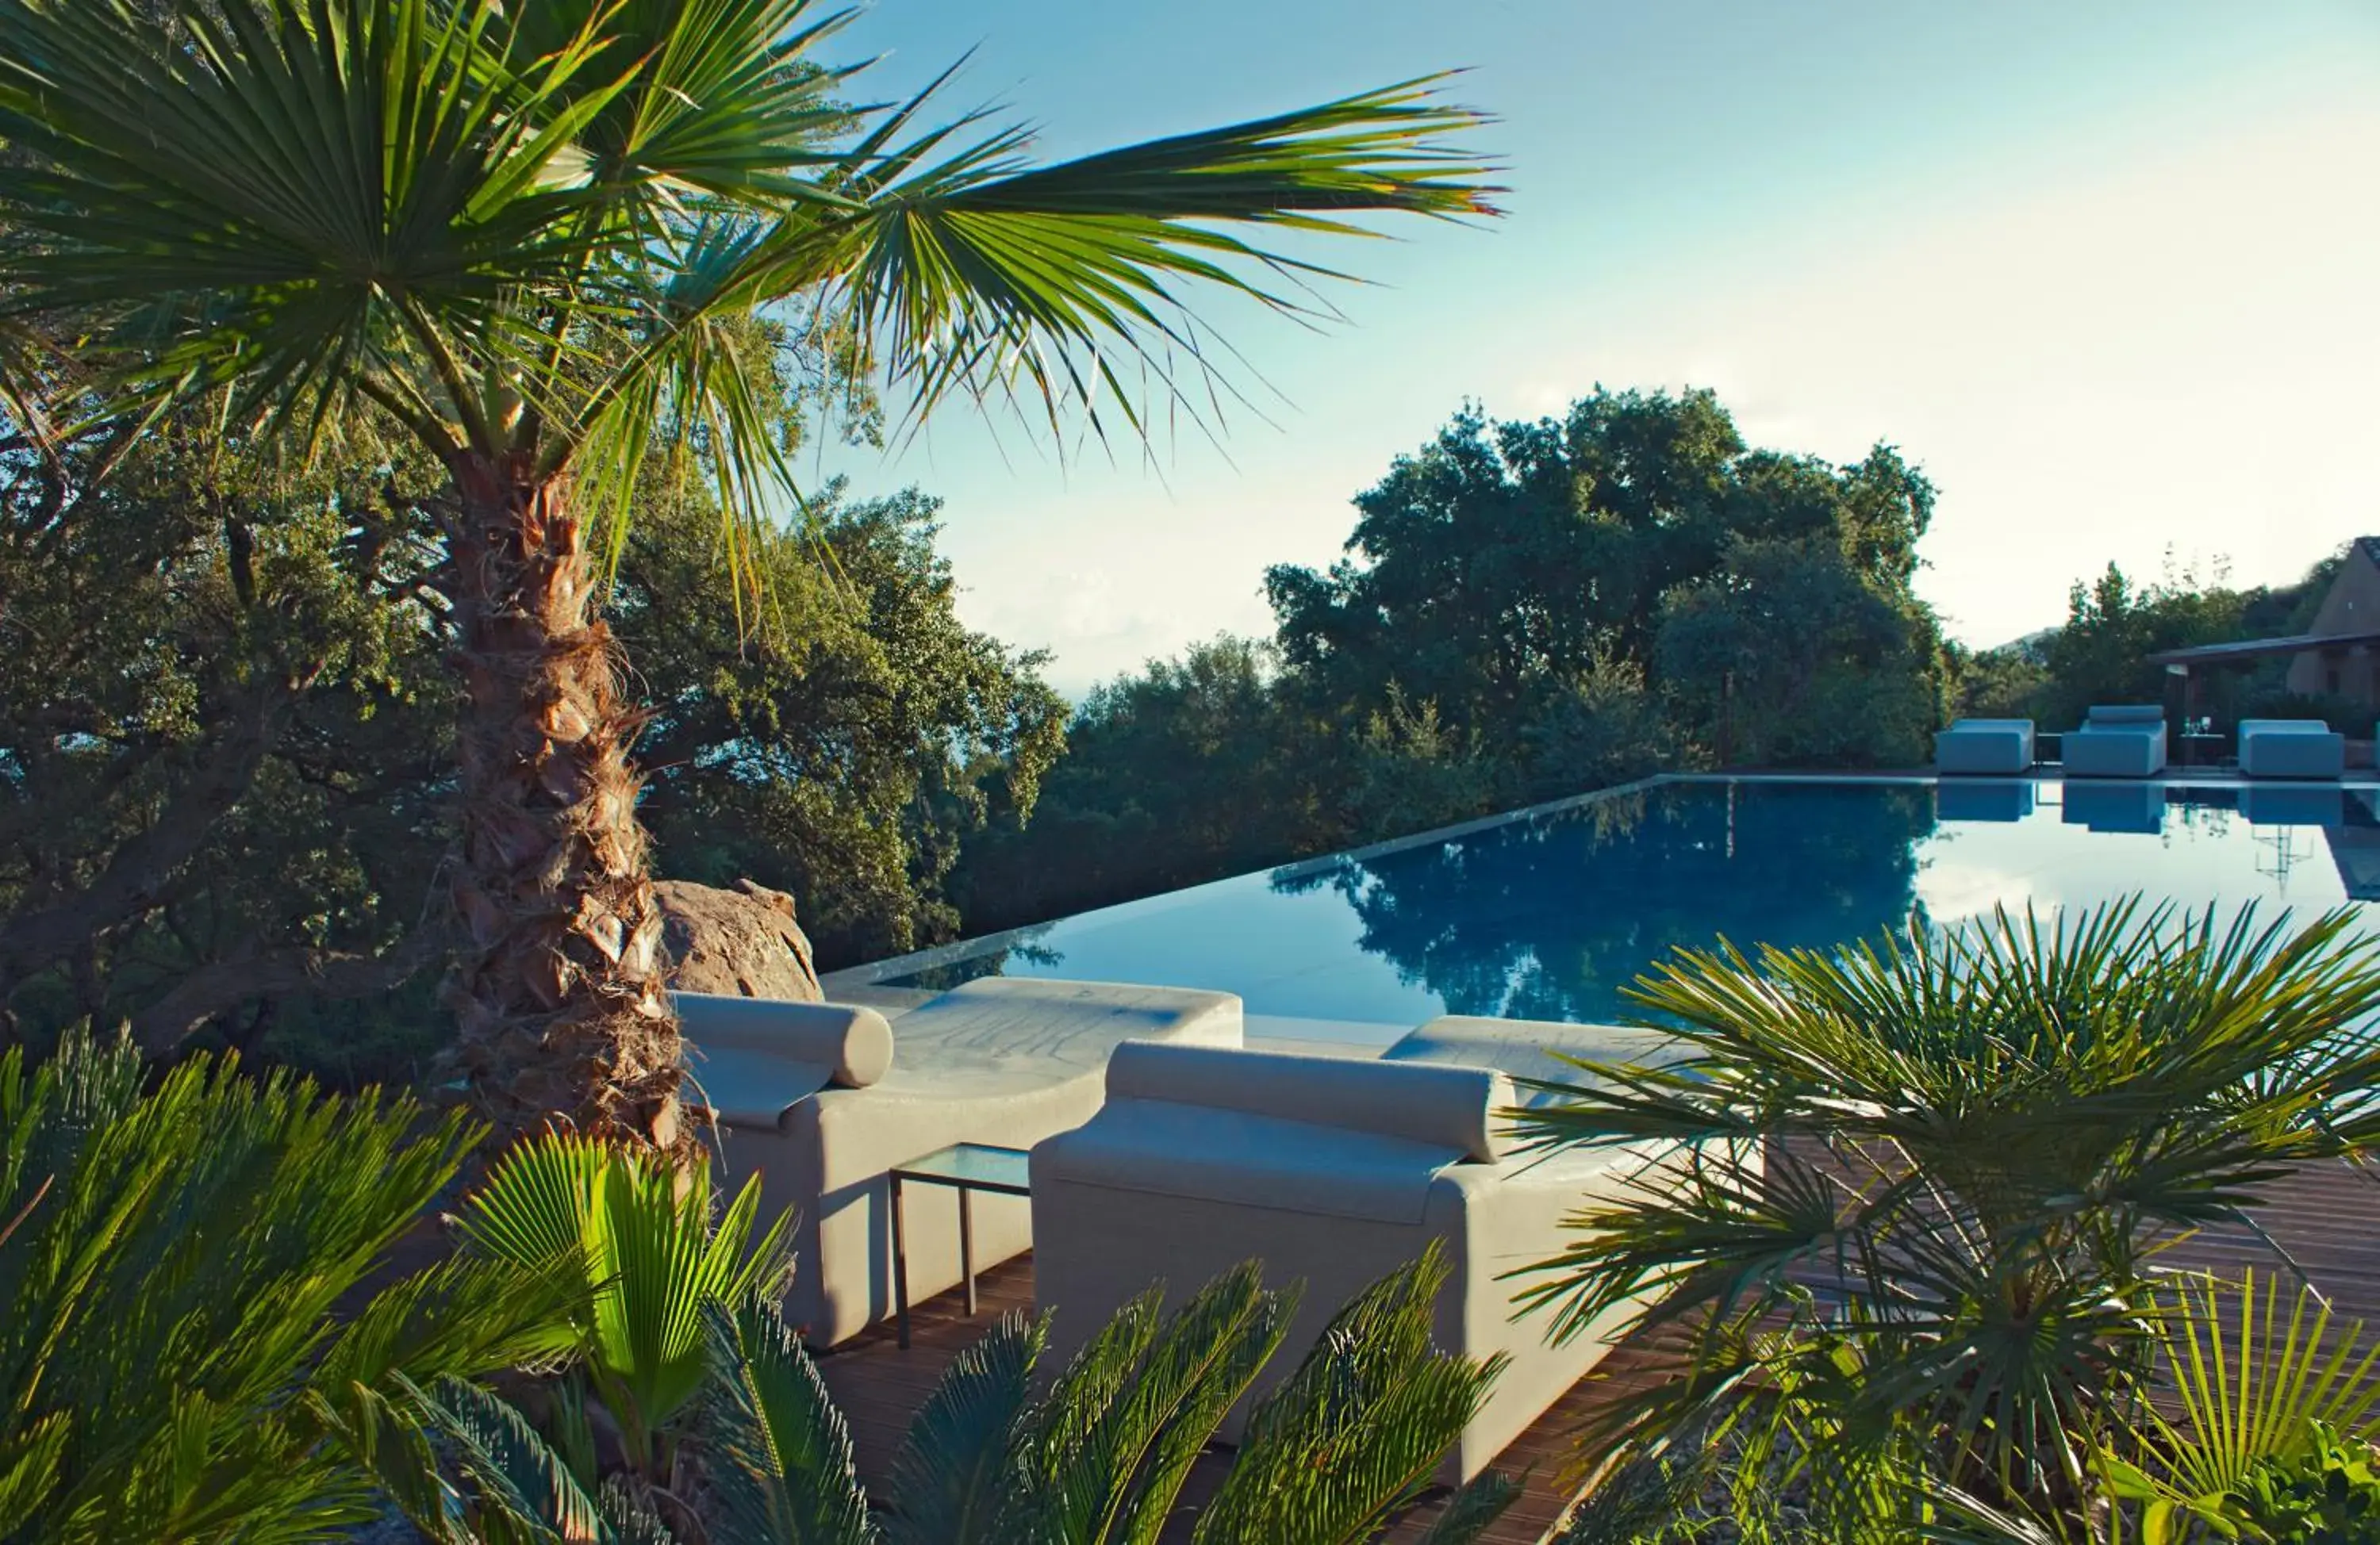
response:
[[[1145,436],[1152,390],[1195,414],[1188,386],[1221,379],[1183,281],[1316,317],[1302,283],[1335,276],[1230,226],[1352,236],[1364,231],[1352,214],[1495,212],[1485,167],[1438,138],[1480,117],[1442,105],[1438,83],[1057,167],[1028,167],[1019,131],[947,155],[950,131],[928,131],[854,179],[864,217],[788,231],[783,276],[764,286],[838,276],[888,376],[909,390],[912,421],[959,393],[1031,405],[1052,426],[1083,412],[1102,436],[1104,409]]]

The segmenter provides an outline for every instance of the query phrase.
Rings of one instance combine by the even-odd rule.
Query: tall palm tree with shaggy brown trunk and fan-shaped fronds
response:
[[[219,393],[238,433],[390,426],[445,471],[481,1112],[693,1143],[597,617],[647,448],[788,490],[774,321],[914,414],[1092,426],[1207,381],[1176,290],[1309,312],[1250,231],[1492,212],[1433,83],[1031,167],[1021,131],[838,100],[809,0],[0,0],[0,326],[90,412]],[[1133,381],[1150,381],[1135,395]],[[19,393],[21,395],[21,393]],[[1102,429],[1104,433],[1104,429]]]

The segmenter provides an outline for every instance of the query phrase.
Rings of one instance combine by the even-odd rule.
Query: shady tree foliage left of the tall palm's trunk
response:
[[[0,471],[0,1007],[252,1043],[438,952],[433,559],[393,469],[126,438]]]

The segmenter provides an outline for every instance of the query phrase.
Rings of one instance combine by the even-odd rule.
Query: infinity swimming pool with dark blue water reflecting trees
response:
[[[2370,786],[1656,778],[838,971],[1238,993],[1271,1036],[1388,1043],[1435,1014],[1597,1021],[1676,945],[1835,945],[1994,905],[2147,893],[2311,917],[2380,902]],[[2380,924],[2380,917],[2373,919]]]

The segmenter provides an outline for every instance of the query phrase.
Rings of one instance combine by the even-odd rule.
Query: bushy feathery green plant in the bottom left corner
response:
[[[583,1293],[452,1262],[355,1295],[471,1133],[131,1047],[0,1057],[0,1540],[312,1540],[440,1516],[438,1390],[543,1357]],[[333,1307],[340,1314],[333,1314]]]

